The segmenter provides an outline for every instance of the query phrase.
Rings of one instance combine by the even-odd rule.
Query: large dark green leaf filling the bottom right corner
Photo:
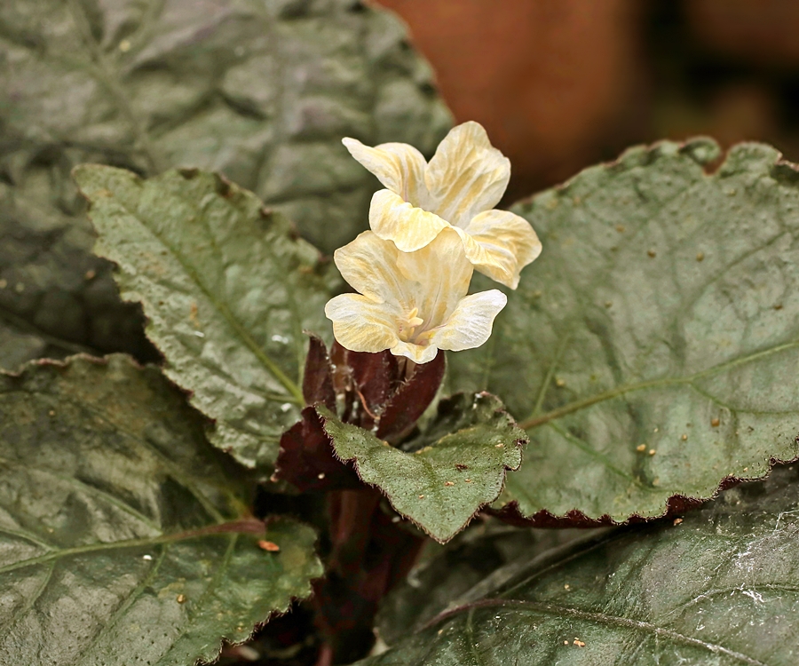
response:
[[[360,664],[794,663],[799,503],[795,469],[778,472],[680,524],[525,556],[479,599],[453,599],[429,628]]]

